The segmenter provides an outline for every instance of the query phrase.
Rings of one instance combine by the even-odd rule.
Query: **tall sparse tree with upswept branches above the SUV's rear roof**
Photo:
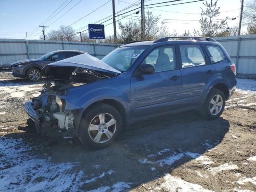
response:
[[[203,3],[203,5],[206,7],[205,10],[201,7],[202,12],[199,22],[201,24],[203,36],[214,37],[226,32],[226,21],[228,17],[226,17],[224,20],[214,21],[214,18],[218,17],[220,14],[220,7],[217,7],[217,2],[218,0],[212,3],[211,0],[210,3]]]

